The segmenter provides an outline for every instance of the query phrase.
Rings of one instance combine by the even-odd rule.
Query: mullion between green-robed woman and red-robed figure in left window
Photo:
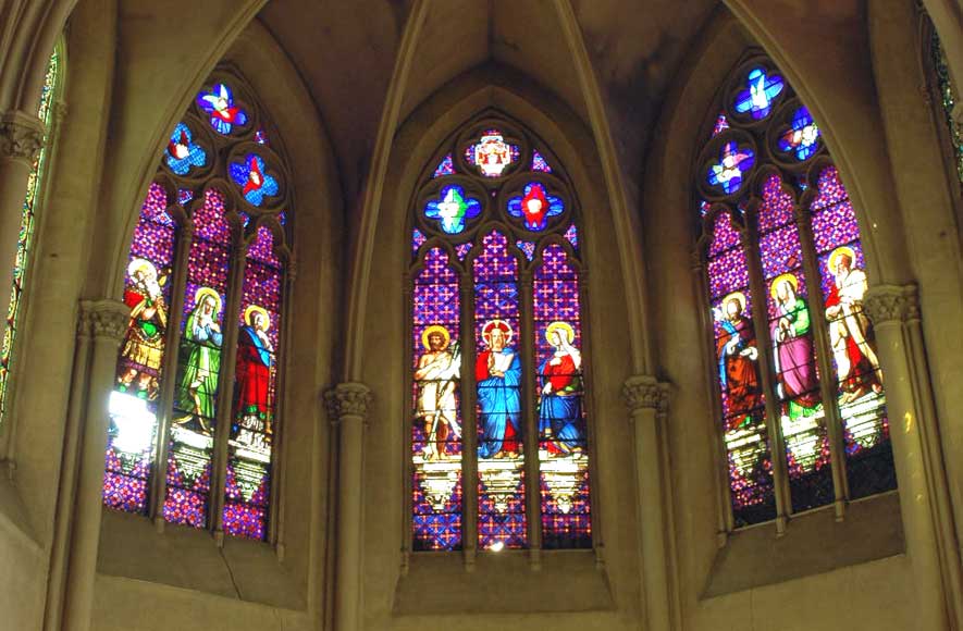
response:
[[[224,483],[227,479],[227,441],[231,438],[231,417],[234,412],[234,372],[237,362],[237,313],[240,311],[240,295],[244,286],[244,271],[247,267],[247,246],[243,239],[231,261],[227,277],[227,300],[224,308],[224,338],[221,345],[221,374],[218,381],[218,424],[214,428],[214,461],[211,466],[210,510],[212,511],[214,539],[223,545]]]

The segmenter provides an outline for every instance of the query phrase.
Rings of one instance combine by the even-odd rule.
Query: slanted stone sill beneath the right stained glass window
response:
[[[785,536],[771,523],[729,535],[703,598],[781,583],[905,552],[899,492],[853,502],[836,521],[832,506],[792,519]]]

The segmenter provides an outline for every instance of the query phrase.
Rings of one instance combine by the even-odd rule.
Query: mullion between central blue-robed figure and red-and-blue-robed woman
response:
[[[524,510],[528,524],[529,558],[533,568],[540,567],[542,548],[541,478],[539,475],[539,434],[535,424],[535,360],[534,360],[534,307],[532,304],[532,273],[519,274],[521,319],[519,321],[518,348],[521,351],[521,410],[522,451],[524,453]]]

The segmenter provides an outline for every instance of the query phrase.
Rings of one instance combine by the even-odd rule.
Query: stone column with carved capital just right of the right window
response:
[[[873,321],[884,368],[893,460],[906,553],[916,586],[919,629],[960,628],[960,558],[952,535],[946,470],[929,378],[922,354],[915,285],[871,287],[863,309]],[[918,352],[917,352],[918,351]]]

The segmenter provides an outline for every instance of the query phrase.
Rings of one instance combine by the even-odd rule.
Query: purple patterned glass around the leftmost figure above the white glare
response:
[[[131,243],[128,260],[146,259],[153,263],[158,270],[158,279],[168,276],[168,282],[161,285],[166,305],[171,304],[171,265],[174,262],[174,233],[175,224],[166,212],[168,196],[160,184],[152,183],[147,191],[147,198],[140,209],[140,219],[134,228],[134,238]],[[131,288],[129,276],[125,287]],[[123,344],[121,346],[123,352]],[[128,368],[145,369],[139,364],[133,366],[119,356],[118,376]],[[145,369],[148,370],[149,369]],[[156,376],[158,382],[162,378],[160,371]],[[157,413],[157,401],[148,401],[148,409]],[[110,508],[126,512],[147,512],[148,480],[153,469],[153,446],[157,444],[157,424],[153,428],[153,436],[150,448],[140,454],[122,453],[114,447],[115,431],[111,428],[108,436],[106,471],[103,477],[103,504]]]

